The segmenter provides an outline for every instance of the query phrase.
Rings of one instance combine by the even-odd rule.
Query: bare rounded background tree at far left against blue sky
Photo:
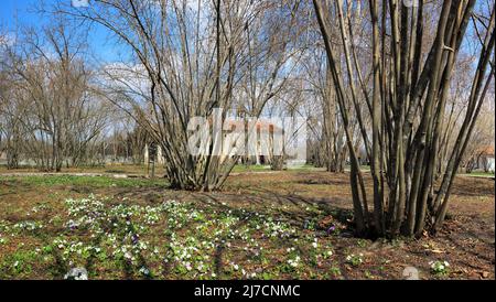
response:
[[[106,105],[91,91],[83,58],[85,36],[68,28],[61,20],[42,31],[25,28],[6,50],[12,93],[3,112],[20,129],[25,158],[41,170],[78,165],[106,123]]]

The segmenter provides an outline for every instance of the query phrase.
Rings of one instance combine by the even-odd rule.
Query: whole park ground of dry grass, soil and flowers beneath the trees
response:
[[[407,266],[417,267],[424,279],[495,278],[493,180],[456,179],[450,219],[443,230],[433,238],[393,241],[349,236],[347,174],[240,173],[230,176],[222,192],[214,193],[171,191],[161,184],[160,180],[141,179],[0,177],[0,238],[4,239],[0,244],[0,278],[60,279],[74,266],[85,266],[93,279],[399,279]],[[122,245],[130,240],[125,235],[130,231],[126,220],[117,219],[116,227],[101,223],[105,236],[96,236],[98,240],[95,230],[67,227],[67,222],[74,217],[69,217],[71,206],[65,201],[78,201],[89,194],[105,201],[104,215],[110,215],[119,205],[141,213],[130,218],[132,231],[148,245],[147,250],[138,251],[139,260],[127,263],[112,256],[115,249],[106,241],[105,236],[109,235],[121,236]],[[161,207],[171,199],[177,201],[180,208],[184,207],[183,214]],[[157,224],[145,222],[147,215],[151,215],[145,214],[147,207],[160,212]],[[195,212],[201,218],[187,216]],[[268,217],[273,222],[267,223]],[[171,226],[171,220],[181,219],[184,219],[183,226]],[[25,222],[37,222],[43,227],[20,229],[19,225]],[[276,223],[280,223],[283,230],[271,238],[265,228],[272,228]],[[257,225],[263,227],[257,229]],[[336,231],[327,233],[332,226]],[[229,233],[236,229],[246,234]],[[215,240],[216,230],[227,237]],[[284,231],[294,233],[285,237]],[[207,273],[190,271],[185,267],[187,261],[173,259],[172,233],[181,248],[197,245],[200,251],[193,256],[201,260],[195,258],[190,262],[193,266],[201,261],[207,267]],[[197,242],[186,244],[193,240],[187,239],[190,237]],[[106,255],[91,254],[85,258],[76,251],[64,260],[63,250],[56,248],[54,239],[66,239],[64,249],[69,248],[69,242],[80,241],[84,247],[100,247]],[[319,244],[314,249],[315,239]],[[254,254],[260,247],[263,251]],[[151,252],[155,248],[158,255]],[[332,256],[327,255],[330,251]],[[172,260],[164,262],[168,257]],[[289,263],[296,257],[301,260],[294,268]],[[449,261],[450,270],[433,273],[429,262],[436,260]],[[143,268],[150,274],[143,274],[140,271]]]

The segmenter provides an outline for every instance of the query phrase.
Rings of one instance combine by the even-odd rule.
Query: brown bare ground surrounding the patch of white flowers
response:
[[[22,180],[22,179],[19,179]],[[370,184],[370,179],[366,179]],[[337,256],[342,279],[401,279],[406,267],[414,267],[421,279],[495,279],[495,182],[492,179],[459,176],[450,199],[449,217],[434,237],[421,239],[366,240],[354,238],[347,229],[351,218],[348,174],[285,171],[276,173],[238,173],[231,175],[220,192],[192,193],[171,191],[164,186],[140,187],[91,185],[31,185],[22,181],[0,177],[0,220],[20,222],[33,206],[46,203],[50,213],[37,217],[48,220],[64,209],[67,197],[99,194],[115,202],[132,199],[137,204],[153,205],[165,199],[195,202],[218,209],[255,209],[285,217],[294,226],[303,227],[309,217],[296,211],[313,205],[324,211],[317,216],[317,229],[342,224],[343,231],[330,240]],[[371,188],[368,187],[371,195]],[[0,257],[15,250],[20,241],[0,245]],[[28,244],[28,242],[24,242]],[[362,254],[364,263],[355,267],[346,262],[346,255]],[[448,274],[432,273],[430,261],[448,261]],[[326,270],[328,267],[316,268]],[[43,272],[34,278],[43,279]],[[317,274],[319,276],[319,274]],[[282,279],[288,277],[281,276]],[[300,278],[312,278],[302,274]]]

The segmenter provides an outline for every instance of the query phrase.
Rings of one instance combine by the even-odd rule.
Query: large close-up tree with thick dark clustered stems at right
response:
[[[444,220],[453,179],[494,78],[494,62],[490,61],[495,42],[494,8],[490,17],[476,18],[474,0],[441,3],[370,0],[369,18],[360,20],[362,26],[370,32],[373,84],[368,96],[367,87],[358,89],[353,85],[362,68],[354,60],[356,41],[352,37],[352,24],[357,20],[343,13],[344,9],[356,9],[358,2],[346,1],[344,4],[338,0],[330,6],[325,1],[313,1],[346,128],[356,230],[360,235],[391,237],[435,231]],[[436,9],[440,10],[433,15],[436,23],[430,43],[425,12]],[[331,13],[333,19],[330,19]],[[468,29],[472,21],[474,26]],[[339,29],[341,41],[331,39],[332,26]],[[464,95],[467,107],[456,142],[436,184],[435,166],[448,91],[468,31],[478,35],[478,62],[470,94]],[[337,53],[334,43],[343,45],[343,55]],[[425,47],[428,52],[423,53]],[[343,69],[339,68],[342,63]],[[351,110],[358,107],[347,105],[356,105],[358,99],[368,101],[366,114],[373,121],[370,130],[362,129],[364,141],[371,142],[367,148],[374,186],[371,213],[370,197],[366,195],[348,130]]]

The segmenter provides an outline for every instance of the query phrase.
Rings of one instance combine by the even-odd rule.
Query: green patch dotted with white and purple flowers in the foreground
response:
[[[39,186],[42,180],[28,183]],[[104,182],[91,181],[95,187]],[[42,185],[64,183],[53,177]],[[41,205],[24,209],[15,223],[0,222],[3,245],[9,245],[1,254],[0,279],[40,273],[60,279],[72,267],[85,267],[91,279],[285,279],[311,272],[324,278],[312,268],[333,254],[331,242],[316,244],[321,235],[313,227],[301,229],[270,209],[268,215],[224,203],[176,201],[144,206],[89,195],[66,198],[64,211],[47,219],[54,203]],[[309,216],[321,214],[301,207]],[[308,261],[315,265],[306,267]]]

